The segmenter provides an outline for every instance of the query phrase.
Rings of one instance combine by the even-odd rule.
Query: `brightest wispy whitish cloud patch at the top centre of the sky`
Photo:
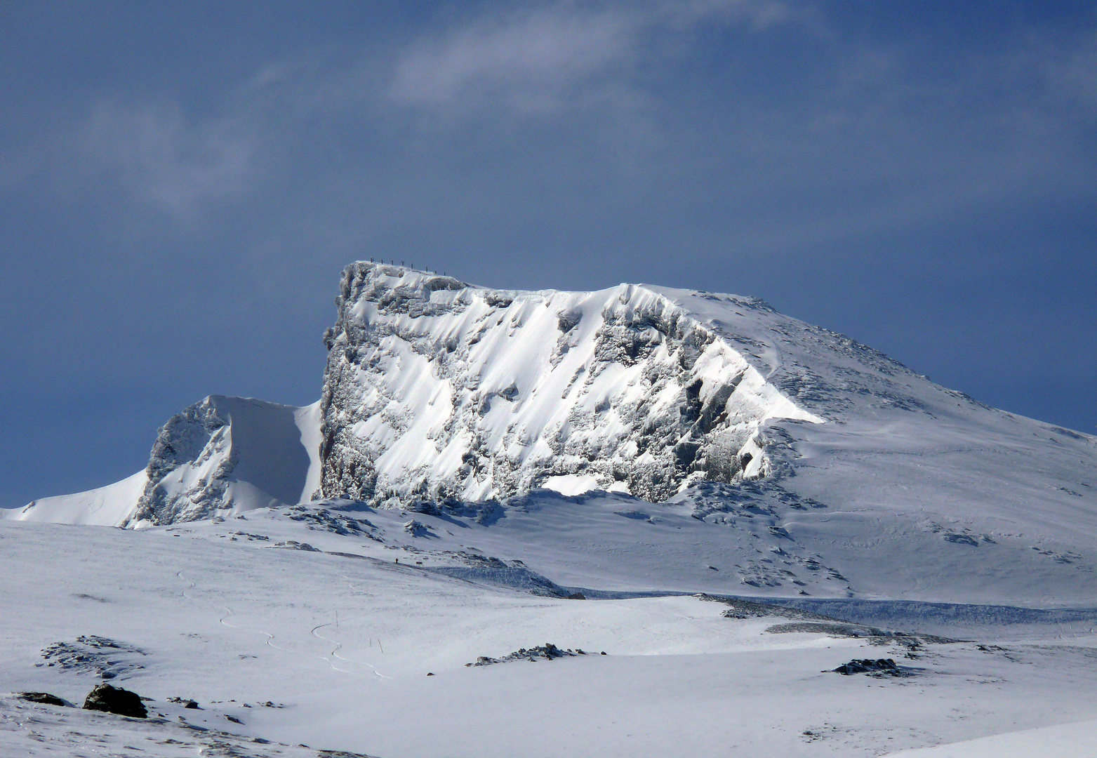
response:
[[[761,32],[792,13],[777,0],[551,2],[486,12],[414,41],[399,53],[389,98],[422,109],[475,113],[490,104],[558,112],[590,87],[620,89],[651,63],[653,37],[701,24]]]

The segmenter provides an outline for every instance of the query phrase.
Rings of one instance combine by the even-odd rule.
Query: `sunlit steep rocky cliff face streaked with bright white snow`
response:
[[[644,286],[508,292],[359,262],[337,305],[325,497],[484,500],[547,485],[658,501],[766,476],[769,419],[822,421]]]

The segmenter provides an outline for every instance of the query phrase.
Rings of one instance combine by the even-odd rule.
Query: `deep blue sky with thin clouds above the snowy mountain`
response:
[[[0,70],[3,506],[315,400],[370,257],[755,295],[1097,433],[1092,2],[7,2]]]

